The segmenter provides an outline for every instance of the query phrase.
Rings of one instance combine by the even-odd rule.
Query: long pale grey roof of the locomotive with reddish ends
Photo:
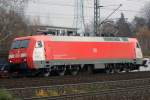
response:
[[[23,39],[34,39],[34,40],[44,40],[44,41],[80,41],[80,42],[102,42],[102,41],[114,41],[114,42],[128,42],[136,41],[135,38],[127,37],[81,37],[81,36],[49,36],[49,35],[35,35],[19,37],[15,40]]]

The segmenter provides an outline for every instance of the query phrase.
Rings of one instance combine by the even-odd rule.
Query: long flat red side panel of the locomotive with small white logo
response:
[[[46,58],[48,60],[135,58],[134,47],[129,42],[47,42],[45,46],[48,48],[46,49]],[[93,49],[95,48],[97,50],[94,52]]]

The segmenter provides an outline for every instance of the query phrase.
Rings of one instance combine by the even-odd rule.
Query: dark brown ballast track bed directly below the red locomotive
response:
[[[19,78],[19,79],[0,79],[0,88],[24,88],[38,87],[62,84],[89,83],[99,81],[115,81],[149,78],[150,72],[134,72],[121,74],[94,74],[94,75],[78,75],[63,77],[47,77],[47,78]]]

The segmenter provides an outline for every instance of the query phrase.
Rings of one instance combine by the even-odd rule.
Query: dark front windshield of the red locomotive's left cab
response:
[[[12,43],[11,49],[27,48],[29,40],[16,40]]]

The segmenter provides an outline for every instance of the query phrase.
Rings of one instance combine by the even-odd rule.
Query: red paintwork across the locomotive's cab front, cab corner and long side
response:
[[[9,54],[17,54],[18,58],[9,59],[12,63],[22,63],[21,53],[27,53],[29,69],[33,66],[33,50],[38,40],[44,41],[46,61],[49,60],[100,60],[100,59],[136,59],[136,39],[129,42],[76,42],[76,41],[51,41],[51,36],[37,35],[16,38],[15,40],[29,39],[27,49],[10,50]]]

